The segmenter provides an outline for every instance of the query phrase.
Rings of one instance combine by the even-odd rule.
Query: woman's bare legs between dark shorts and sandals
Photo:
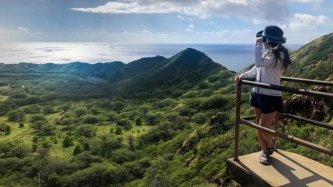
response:
[[[271,112],[271,113],[262,113],[262,115],[260,116],[260,121],[259,121],[259,125],[269,128],[272,124],[272,122],[274,121],[274,118],[276,116],[276,114],[278,114],[278,111],[275,112]],[[260,142],[260,147],[262,148],[262,150],[266,151],[267,148],[271,148],[271,145],[273,145],[273,135],[272,134],[268,134],[267,132],[263,132],[261,130],[257,131],[258,134],[258,139],[261,136],[262,139],[264,139],[264,142]]]

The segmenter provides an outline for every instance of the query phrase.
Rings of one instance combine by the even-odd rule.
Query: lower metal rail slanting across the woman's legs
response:
[[[323,152],[324,154],[328,154],[330,156],[333,156],[333,150],[330,150],[330,149],[327,149],[327,148],[324,148],[323,146],[321,145],[316,145],[315,143],[311,143],[309,141],[305,141],[305,140],[302,140],[302,139],[298,139],[294,136],[291,136],[289,134],[284,134],[282,132],[278,132],[276,130],[271,130],[271,129],[268,129],[266,127],[262,127],[260,125],[257,125],[255,123],[252,123],[250,121],[246,121],[244,119],[240,119],[239,120],[240,123],[243,123],[244,125],[248,125],[249,127],[253,127],[257,130],[262,130],[264,132],[268,132],[269,134],[273,134],[275,136],[278,136],[282,139],[286,139],[288,141],[292,141],[294,143],[297,143],[297,144],[300,144],[300,145],[303,145],[307,148],[311,148],[312,150],[316,150],[316,151],[319,151],[319,152]]]

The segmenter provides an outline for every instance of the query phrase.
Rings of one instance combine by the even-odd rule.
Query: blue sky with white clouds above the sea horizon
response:
[[[289,44],[332,33],[332,0],[0,0],[0,42],[252,44],[265,26]]]

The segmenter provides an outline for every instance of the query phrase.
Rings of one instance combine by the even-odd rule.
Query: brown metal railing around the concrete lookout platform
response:
[[[321,80],[308,80],[308,79],[302,79],[302,78],[289,78],[289,77],[282,77],[281,80],[284,81],[290,81],[290,82],[300,82],[300,83],[307,83],[307,84],[316,84],[316,85],[323,85],[323,86],[330,86],[333,87],[333,82],[327,82],[327,81],[321,81]],[[305,141],[302,139],[298,139],[294,136],[291,136],[289,134],[284,134],[283,132],[278,131],[278,121],[279,121],[279,115],[283,116],[285,118],[292,118],[296,121],[302,121],[305,123],[310,123],[312,125],[317,125],[319,127],[325,127],[327,129],[333,130],[333,125],[319,122],[319,121],[314,121],[311,119],[307,118],[302,118],[300,116],[294,116],[291,114],[285,114],[285,113],[279,113],[277,116],[275,116],[275,120],[273,123],[273,130],[262,127],[260,125],[257,125],[253,122],[250,122],[249,120],[255,119],[255,116],[246,116],[241,118],[241,85],[250,85],[250,86],[255,86],[255,87],[263,87],[266,89],[275,89],[275,90],[280,90],[280,91],[287,91],[291,92],[294,94],[301,94],[305,96],[315,96],[319,98],[324,98],[324,99],[329,99],[333,100],[333,94],[330,93],[325,93],[321,91],[310,91],[306,89],[295,89],[291,87],[284,87],[284,86],[279,86],[275,84],[265,84],[262,82],[253,82],[250,79],[244,79],[240,80],[239,84],[237,85],[237,90],[236,90],[236,119],[235,119],[235,126],[234,126],[234,161],[239,161],[238,156],[239,156],[239,125],[244,124],[248,125],[249,127],[253,127],[257,130],[262,130],[263,132],[267,132],[269,134],[273,134],[275,136],[275,139],[278,137],[282,139],[286,139],[288,141],[292,141],[294,143],[304,145],[307,148],[311,148],[312,150],[316,150],[319,152],[323,152],[324,154],[328,154],[330,156],[333,156],[333,150],[324,148],[321,145],[317,145],[315,143],[311,143],[309,141]]]

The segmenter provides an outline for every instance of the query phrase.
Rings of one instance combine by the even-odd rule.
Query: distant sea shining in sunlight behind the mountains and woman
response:
[[[290,51],[302,45],[286,45]],[[195,48],[214,62],[232,71],[241,71],[254,62],[253,44],[107,44],[65,42],[21,42],[0,44],[0,62],[15,64],[32,62],[112,62],[124,63],[142,57],[171,57],[185,48]]]

